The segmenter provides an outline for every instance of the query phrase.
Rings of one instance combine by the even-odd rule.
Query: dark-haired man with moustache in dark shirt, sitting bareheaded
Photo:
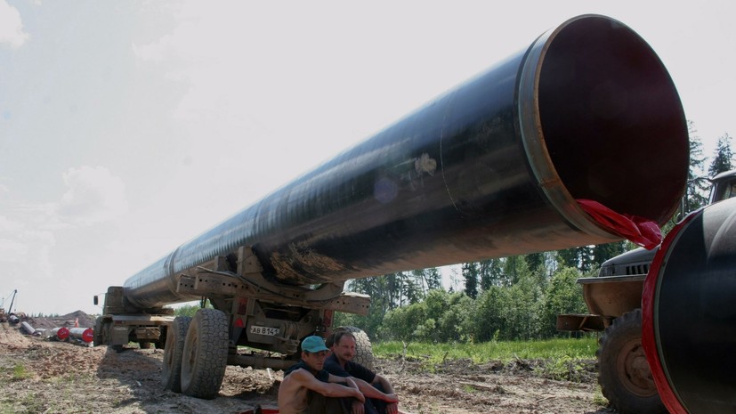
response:
[[[325,370],[336,377],[351,377],[366,396],[366,414],[401,414],[399,398],[383,376],[352,361],[355,357],[355,337],[351,332],[337,330],[328,338],[332,353],[325,360]]]

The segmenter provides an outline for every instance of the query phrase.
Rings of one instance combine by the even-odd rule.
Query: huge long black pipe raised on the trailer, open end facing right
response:
[[[580,16],[191,239],[125,295],[196,299],[174,276],[239,246],[306,285],[614,241],[575,199],[665,223],[687,168],[667,69],[619,21]]]

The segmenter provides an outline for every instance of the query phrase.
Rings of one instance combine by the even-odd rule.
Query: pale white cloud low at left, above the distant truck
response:
[[[80,166],[62,176],[66,192],[59,201],[11,199],[0,204],[0,266],[17,288],[37,288],[77,272],[60,257],[68,257],[80,246],[94,248],[85,244],[95,237],[96,230],[89,226],[127,210],[125,185],[107,168]]]

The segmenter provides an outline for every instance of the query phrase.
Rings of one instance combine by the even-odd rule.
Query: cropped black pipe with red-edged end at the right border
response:
[[[736,199],[667,235],[644,282],[643,346],[672,414],[736,412]]]

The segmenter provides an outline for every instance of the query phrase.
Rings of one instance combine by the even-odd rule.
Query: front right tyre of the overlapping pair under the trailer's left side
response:
[[[182,393],[213,399],[228,362],[228,316],[215,309],[194,314],[182,354]]]

